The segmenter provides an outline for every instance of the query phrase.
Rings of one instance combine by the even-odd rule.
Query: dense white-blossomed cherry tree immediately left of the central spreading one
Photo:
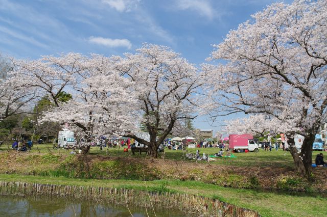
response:
[[[44,114],[42,121],[69,123],[82,132],[86,143],[82,153],[89,151],[89,142],[95,135],[124,134],[133,131],[131,82],[114,69],[115,60],[100,55],[83,57],[82,69],[72,75],[75,83],[67,83],[72,99],[59,103]],[[131,97],[132,99],[129,99]]]

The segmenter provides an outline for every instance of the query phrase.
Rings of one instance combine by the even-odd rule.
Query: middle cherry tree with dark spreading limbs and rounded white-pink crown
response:
[[[120,59],[117,57],[117,59]],[[133,109],[137,122],[146,126],[150,141],[126,133],[126,137],[149,147],[152,157],[172,131],[176,121],[193,119],[202,85],[197,68],[168,47],[144,44],[135,54],[126,53],[116,64],[116,69],[133,82],[137,100]]]

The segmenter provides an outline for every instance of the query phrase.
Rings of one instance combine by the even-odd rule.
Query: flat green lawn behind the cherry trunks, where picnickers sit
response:
[[[9,147],[10,151],[11,147]],[[144,158],[145,153],[142,153],[140,155],[139,153],[135,153],[135,155],[132,155],[131,151],[129,152],[123,152],[122,147],[120,148],[105,148],[104,150],[100,150],[99,147],[91,147],[90,154],[91,155],[104,155],[104,156],[115,156],[115,157],[136,157],[136,158]],[[219,148],[189,148],[187,151],[189,153],[195,153],[196,150],[200,150],[200,154],[206,153],[206,154],[214,154],[217,153],[220,149]],[[0,147],[0,151],[7,151],[6,145],[2,145]],[[69,152],[65,149],[53,149],[52,144],[35,144],[32,147],[31,153],[49,153],[50,151],[54,154],[64,154],[69,155]],[[315,159],[315,156],[319,154],[321,151],[313,151],[313,161]],[[186,151],[181,150],[169,150],[165,149],[165,159],[173,159],[173,160],[184,160]],[[290,152],[283,151],[282,149],[278,149],[276,151],[273,149],[270,151],[264,151],[262,149],[259,150],[258,153],[254,152],[248,152],[248,153],[233,153],[237,156],[237,158],[217,158],[217,161],[211,161],[211,164],[217,164],[217,165],[233,165],[237,167],[282,167],[282,168],[293,168],[293,158],[290,154]],[[159,157],[164,157],[162,153],[159,153]],[[189,160],[194,161],[195,160]],[[204,163],[204,162],[203,162]]]

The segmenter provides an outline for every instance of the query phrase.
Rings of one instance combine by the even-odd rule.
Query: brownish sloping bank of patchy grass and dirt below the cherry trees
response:
[[[244,153],[247,154],[247,153]],[[267,156],[269,158],[269,156]],[[226,160],[226,159],[219,159]],[[235,158],[233,160],[238,160]],[[274,162],[274,164],[277,164]],[[296,176],[284,167],[239,167],[191,160],[149,159],[104,155],[0,152],[0,173],[46,177],[182,180],[236,188],[326,192],[326,168],[316,168],[312,179]]]

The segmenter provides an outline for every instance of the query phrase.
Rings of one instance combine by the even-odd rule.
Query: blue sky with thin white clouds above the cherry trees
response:
[[[17,59],[62,52],[110,56],[147,42],[169,46],[199,65],[212,44],[274,2],[280,1],[0,0],[0,52]],[[219,129],[204,119],[195,127]]]

